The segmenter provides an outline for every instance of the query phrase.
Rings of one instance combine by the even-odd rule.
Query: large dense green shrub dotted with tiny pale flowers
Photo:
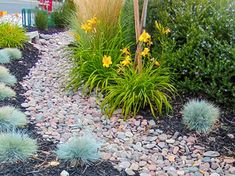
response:
[[[154,53],[171,68],[178,89],[235,104],[234,9],[231,0],[151,1]],[[171,33],[153,29],[155,20]]]

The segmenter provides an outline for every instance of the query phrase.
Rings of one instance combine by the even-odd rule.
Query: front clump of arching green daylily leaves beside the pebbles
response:
[[[168,94],[172,94],[175,89],[169,83],[166,69],[149,65],[139,74],[129,67],[113,79],[115,83],[104,89],[106,95],[101,104],[101,108],[105,109],[109,116],[118,108],[122,109],[125,118],[131,112],[135,116],[146,106],[155,117],[156,112],[162,113],[163,107],[166,111],[171,109]]]

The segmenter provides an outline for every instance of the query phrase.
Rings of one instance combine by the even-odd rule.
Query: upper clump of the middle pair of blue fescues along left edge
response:
[[[9,70],[3,66],[0,66],[0,82],[3,82],[9,86],[16,84],[16,77],[9,73]]]

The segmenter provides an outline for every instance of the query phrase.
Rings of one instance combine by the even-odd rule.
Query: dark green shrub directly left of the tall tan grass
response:
[[[52,21],[56,27],[65,28],[70,24],[72,14],[75,13],[76,7],[72,0],[66,0],[61,7],[51,14]]]

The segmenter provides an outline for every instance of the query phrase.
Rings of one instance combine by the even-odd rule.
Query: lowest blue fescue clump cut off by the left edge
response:
[[[37,151],[37,142],[20,132],[0,133],[0,162],[25,161]]]

